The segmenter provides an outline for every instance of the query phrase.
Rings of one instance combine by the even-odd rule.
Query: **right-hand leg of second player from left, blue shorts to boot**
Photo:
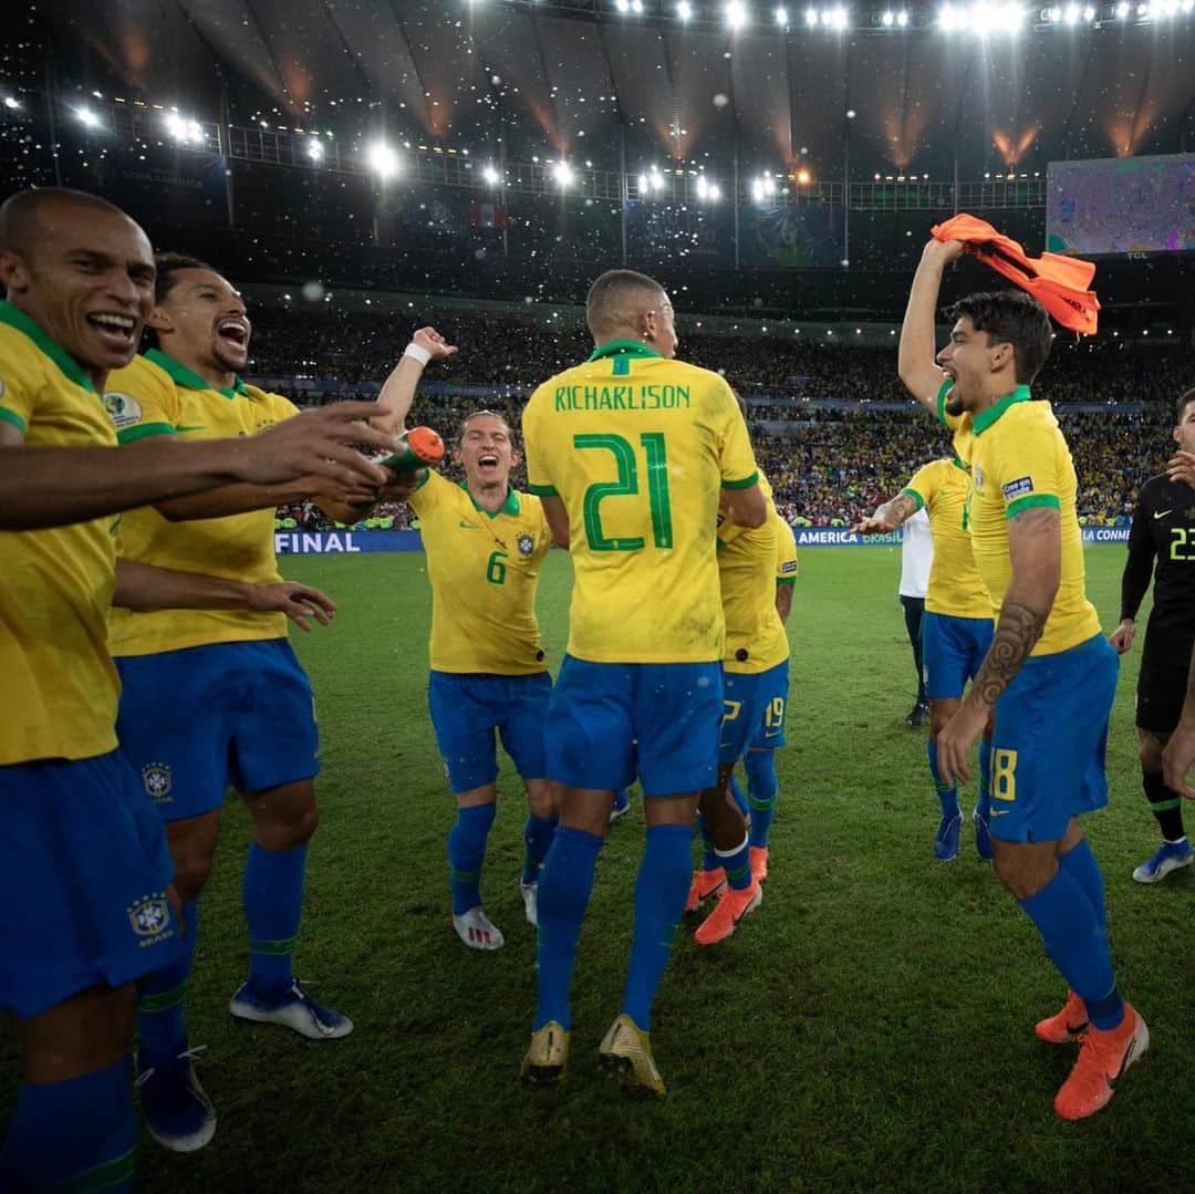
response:
[[[319,735],[311,684],[286,639],[219,649],[249,684],[247,704],[232,720],[229,757],[233,784],[253,821],[241,880],[249,978],[228,1010],[239,1020],[282,1024],[310,1040],[347,1036],[353,1022],[315,1003],[293,969],[307,851],[319,825]]]

